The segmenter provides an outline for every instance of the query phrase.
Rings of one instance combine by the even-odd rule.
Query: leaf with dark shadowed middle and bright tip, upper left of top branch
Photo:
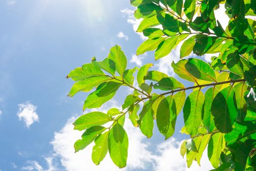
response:
[[[163,11],[163,9],[160,6],[154,3],[145,3],[137,7],[137,9],[134,12],[134,17],[136,19],[140,19],[140,18],[146,19],[156,15],[161,11]]]

